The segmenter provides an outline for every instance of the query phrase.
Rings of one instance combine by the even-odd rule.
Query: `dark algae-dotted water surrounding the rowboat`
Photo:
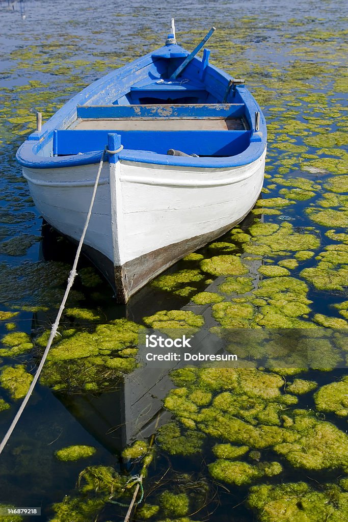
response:
[[[218,28],[209,45],[211,61],[246,78],[269,131],[265,188],[254,211],[127,307],[116,306],[111,289],[82,262],[62,337],[0,457],[0,502],[42,508],[41,517],[26,520],[88,522],[97,514],[101,522],[123,519],[125,508],[105,504],[105,476],[99,482],[90,476],[90,489],[81,490],[83,478],[79,492],[75,486],[88,466],[112,466],[127,476],[141,469],[140,459],[122,459],[120,453],[129,437],[137,438],[142,419],[152,413],[155,419],[161,405],[148,393],[137,413],[125,406],[140,379],[132,372],[144,325],[193,328],[198,336],[215,327],[212,335],[227,336],[228,349],[247,365],[266,367],[176,375],[174,393],[174,382],[166,379],[163,428],[145,481],[146,502],[160,506],[150,521],[348,518],[348,385],[341,380],[348,326],[345,13],[340,1],[174,2],[171,8],[99,0],[0,4],[0,435],[35,371],[73,257],[64,240],[41,228],[15,162],[35,112],[45,120],[94,79],[162,45],[174,16],[178,42],[188,49],[212,25]],[[243,330],[242,337],[253,329],[248,346],[231,328]],[[266,339],[254,339],[261,328]],[[310,334],[314,329],[317,337]],[[290,330],[302,333],[297,346]],[[308,360],[295,357],[293,346],[297,355],[302,347],[308,350]],[[279,369],[280,362],[295,370]],[[125,383],[121,371],[128,372]],[[156,372],[148,379],[155,382]],[[296,388],[294,379],[316,386],[302,383],[301,389],[297,382]],[[175,426],[168,424],[170,415]],[[236,419],[246,426],[238,436]],[[154,424],[143,437],[157,432]],[[269,427],[281,431],[272,438]],[[228,458],[227,448],[216,445],[230,443],[248,449]],[[71,445],[96,452],[75,462],[58,460],[55,452]],[[269,462],[278,467],[269,470]],[[291,491],[281,487],[286,483],[293,484]],[[172,493],[179,495],[174,507]],[[52,505],[65,495],[66,513],[57,507],[54,517]],[[88,511],[82,506],[89,502]],[[136,518],[147,515],[140,511]]]

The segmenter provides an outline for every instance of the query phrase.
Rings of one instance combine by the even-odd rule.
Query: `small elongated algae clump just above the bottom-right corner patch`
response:
[[[247,462],[230,461],[224,459],[215,460],[209,466],[211,476],[215,480],[222,480],[227,484],[237,486],[250,484],[261,477],[272,477],[282,472],[283,468],[279,462],[262,462],[252,466]]]

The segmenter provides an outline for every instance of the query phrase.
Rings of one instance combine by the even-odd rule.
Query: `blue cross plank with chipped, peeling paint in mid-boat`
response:
[[[79,118],[236,118],[244,114],[244,103],[175,105],[78,105]]]

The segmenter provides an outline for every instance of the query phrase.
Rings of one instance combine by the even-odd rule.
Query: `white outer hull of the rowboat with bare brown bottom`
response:
[[[119,302],[189,252],[240,222],[260,194],[266,149],[233,168],[104,163],[85,251]],[[79,241],[98,165],[23,167],[35,206],[56,230]]]

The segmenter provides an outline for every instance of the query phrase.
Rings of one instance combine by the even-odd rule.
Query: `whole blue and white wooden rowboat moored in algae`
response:
[[[209,38],[203,39],[198,48]],[[242,80],[166,44],[83,89],[17,151],[34,203],[119,303],[240,222],[260,194],[265,118]]]

